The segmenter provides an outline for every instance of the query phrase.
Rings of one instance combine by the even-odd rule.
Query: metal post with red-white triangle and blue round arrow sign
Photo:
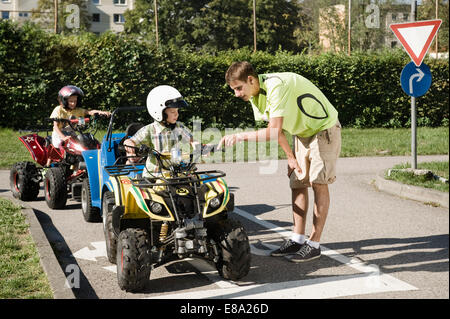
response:
[[[400,75],[402,89],[411,96],[412,169],[417,169],[416,97],[424,95],[431,85],[430,69],[422,61],[441,23],[442,20],[428,20],[389,26],[413,61],[405,66]]]

